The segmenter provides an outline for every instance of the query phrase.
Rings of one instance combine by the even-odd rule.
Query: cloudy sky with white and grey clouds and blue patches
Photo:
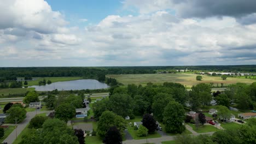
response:
[[[255,0],[0,0],[0,67],[256,64]]]

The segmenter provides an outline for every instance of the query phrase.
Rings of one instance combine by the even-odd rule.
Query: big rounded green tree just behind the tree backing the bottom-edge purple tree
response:
[[[133,115],[134,102],[130,95],[115,93],[109,99],[109,108],[119,116]]]

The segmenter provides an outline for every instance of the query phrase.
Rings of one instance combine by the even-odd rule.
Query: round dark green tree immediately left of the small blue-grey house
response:
[[[63,103],[55,109],[55,117],[63,121],[67,121],[75,116],[75,107],[73,105]]]

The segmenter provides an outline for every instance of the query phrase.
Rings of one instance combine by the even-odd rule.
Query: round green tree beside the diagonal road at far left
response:
[[[15,123],[15,119],[17,119],[17,123],[22,122],[26,118],[26,110],[19,106],[11,106],[11,108],[6,111],[7,117],[5,119],[8,123]]]

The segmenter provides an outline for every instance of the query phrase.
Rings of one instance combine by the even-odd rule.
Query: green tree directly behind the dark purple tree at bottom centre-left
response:
[[[104,136],[110,127],[116,126],[121,134],[124,134],[124,130],[127,127],[127,122],[121,116],[116,115],[113,112],[105,111],[102,113],[100,120],[98,121],[97,132],[98,135]]]

